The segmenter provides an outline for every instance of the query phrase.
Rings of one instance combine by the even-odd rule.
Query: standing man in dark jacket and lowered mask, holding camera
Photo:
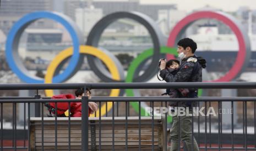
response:
[[[197,49],[197,43],[192,39],[184,38],[177,43],[178,57],[181,59],[181,65],[179,71],[173,75],[168,69],[166,69],[166,61],[161,60],[160,64],[160,77],[166,82],[202,82],[202,68],[206,67],[206,61],[201,57],[194,55]],[[180,95],[182,97],[182,95]],[[186,96],[189,98],[198,97],[198,89],[189,89],[189,94]],[[189,112],[192,112],[192,103],[194,102],[179,102],[179,107],[189,108]],[[178,127],[180,125],[180,127]],[[192,117],[191,116],[173,116],[173,124],[170,132],[171,136],[171,151],[178,150],[178,138],[179,130],[181,132],[181,141],[184,141],[188,150],[199,150],[197,141],[193,137],[192,141]],[[192,143],[193,142],[193,143]]]

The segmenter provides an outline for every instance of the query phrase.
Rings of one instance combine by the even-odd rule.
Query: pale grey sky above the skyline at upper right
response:
[[[235,11],[239,7],[247,6],[256,9],[256,0],[140,0],[147,4],[177,4],[179,10],[192,11],[210,5],[224,11]]]

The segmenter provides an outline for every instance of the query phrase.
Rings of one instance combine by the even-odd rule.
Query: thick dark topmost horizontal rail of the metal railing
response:
[[[241,89],[256,88],[256,82],[189,82],[189,83],[57,83],[57,84],[1,84],[0,90],[44,90],[44,89]]]

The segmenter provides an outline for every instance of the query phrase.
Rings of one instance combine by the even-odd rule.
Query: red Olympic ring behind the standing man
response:
[[[183,30],[186,30],[186,28],[192,24],[194,21],[197,21],[199,19],[205,19],[205,18],[211,18],[216,19],[219,21],[222,21],[224,24],[229,26],[231,30],[235,33],[238,44],[239,44],[239,50],[237,53],[237,58],[234,63],[234,65],[231,67],[230,71],[228,71],[224,76],[220,77],[216,80],[206,81],[206,82],[229,82],[232,79],[236,78],[238,73],[241,72],[242,67],[244,65],[244,61],[246,61],[246,53],[248,48],[250,49],[250,46],[247,44],[247,37],[244,36],[244,34],[241,31],[241,28],[235,24],[235,22],[231,19],[232,16],[228,16],[222,14],[221,12],[214,12],[214,11],[199,11],[196,13],[192,13],[185,18],[183,18],[181,21],[179,21],[175,27],[173,27],[173,30],[170,32],[170,35],[168,37],[167,46],[168,47],[176,47],[176,39],[179,39],[181,37],[181,32]],[[167,58],[173,57],[172,55],[167,55]]]

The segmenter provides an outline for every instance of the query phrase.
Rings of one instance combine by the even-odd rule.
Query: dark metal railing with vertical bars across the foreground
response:
[[[115,140],[115,125],[124,125],[125,126],[125,145],[124,145],[124,150],[129,150],[129,141],[128,141],[128,126],[129,125],[138,125],[138,149],[140,150],[141,147],[143,146],[143,144],[141,143],[141,117],[143,117],[143,115],[141,115],[141,102],[150,102],[150,107],[152,107],[152,116],[151,116],[151,123],[143,123],[145,125],[151,125],[151,150],[157,150],[155,147],[155,135],[154,135],[154,129],[155,126],[157,125],[156,123],[154,123],[154,103],[160,102],[161,106],[163,107],[167,107],[167,102],[170,101],[170,97],[92,97],[92,98],[88,98],[88,97],[82,97],[81,100],[77,100],[77,99],[68,99],[68,100],[52,100],[49,99],[48,97],[41,97],[38,94],[38,90],[45,90],[45,89],[78,89],[78,88],[89,88],[89,89],[166,89],[166,88],[203,88],[203,89],[255,89],[256,88],[256,83],[251,83],[251,82],[230,82],[230,83],[85,83],[85,84],[1,84],[0,85],[0,90],[36,90],[36,95],[34,97],[0,97],[0,104],[1,104],[1,146],[0,149],[1,150],[8,150],[8,149],[12,149],[12,150],[24,150],[24,149],[28,149],[30,150],[30,118],[31,118],[31,107],[30,104],[31,103],[37,103],[36,106],[36,112],[35,117],[41,117],[41,149],[40,150],[44,150],[44,129],[43,127],[45,126],[45,118],[43,117],[44,113],[44,107],[43,107],[43,103],[44,102],[69,102],[69,111],[70,111],[70,102],[80,102],[82,103],[82,117],[81,117],[81,150],[101,150],[101,143],[104,141],[101,141],[101,126],[102,125],[102,117],[101,117],[101,113],[99,116],[99,120],[97,121],[97,123],[90,123],[89,122],[89,118],[88,118],[88,102],[90,101],[94,101],[94,102],[98,102],[99,103],[99,108],[101,108],[101,103],[102,102],[108,102],[111,101],[112,102],[112,113],[108,114],[111,115],[112,119],[110,123],[104,123],[105,125],[111,125],[112,126],[112,130],[110,130],[112,132],[112,148],[111,150],[115,150],[116,147],[116,142],[118,143],[118,141]],[[200,149],[204,149],[204,150],[255,150],[256,149],[256,115],[255,115],[255,100],[256,97],[199,97],[199,98],[171,98],[171,101],[192,101],[192,102],[204,102],[204,106],[205,108],[211,106],[211,102],[217,102],[217,106],[218,109],[221,108],[221,102],[231,102],[231,109],[234,108],[233,106],[233,102],[238,102],[238,101],[242,101],[243,102],[243,126],[242,126],[242,133],[237,134],[234,132],[235,127],[233,125],[233,114],[231,114],[231,133],[224,133],[223,129],[222,129],[222,115],[221,113],[217,113],[217,134],[212,132],[212,118],[211,116],[208,117],[204,117],[204,132],[201,133],[201,129],[200,129],[200,116],[198,117],[198,130],[197,132],[194,132],[195,127],[194,127],[194,123],[195,123],[195,119],[192,116],[192,137],[194,136],[195,133],[197,133],[197,141],[199,144],[199,148]],[[252,101],[253,102],[253,108],[254,108],[254,118],[253,118],[253,130],[250,134],[248,134],[248,121],[247,121],[247,102]],[[125,118],[124,118],[124,122],[123,123],[118,123],[115,120],[115,106],[114,104],[119,103],[119,102],[124,102],[125,103]],[[138,112],[138,123],[128,123],[128,119],[129,119],[129,103],[130,102],[139,102],[139,112]],[[12,103],[13,104],[13,116],[12,116],[12,129],[10,130],[12,132],[12,141],[11,141],[11,145],[9,147],[3,146],[4,144],[4,129],[3,129],[3,104],[4,103]],[[17,103],[24,103],[24,124],[23,124],[23,132],[20,132],[18,135],[18,131],[17,131]],[[26,104],[28,105],[28,107],[26,108]],[[39,105],[41,104],[41,106]],[[164,105],[163,105],[164,104]],[[56,104],[57,106],[57,104]],[[107,107],[107,106],[106,106]],[[106,109],[107,110],[107,109]],[[28,111],[28,113],[26,113],[26,111]],[[101,109],[100,109],[101,111]],[[205,110],[206,113],[206,110]],[[117,112],[116,115],[118,117],[118,106],[117,106]],[[107,115],[106,115],[107,117]],[[168,137],[167,137],[167,113],[164,114],[164,116],[162,116],[162,120],[163,120],[163,124],[164,124],[164,131],[162,132],[164,135],[164,144],[162,145],[163,147],[159,150],[167,150],[167,141],[168,141]],[[28,120],[26,123],[26,119]],[[57,120],[57,116],[55,117],[55,150],[58,149],[58,136],[57,136],[57,131],[58,131],[58,120]],[[68,121],[68,150],[71,150],[71,141],[70,141],[70,115],[67,119]],[[208,121],[209,120],[209,124]],[[97,148],[92,148],[92,143],[90,144],[91,148],[89,148],[89,129],[91,129],[90,125],[97,125],[99,126],[99,141],[96,141],[99,146],[97,146]],[[209,126],[208,126],[209,125]],[[208,129],[209,127],[209,129]],[[17,144],[17,138],[20,137],[23,133],[23,143],[22,145],[18,146]],[[25,135],[27,133],[27,136]],[[179,130],[180,133],[180,130]],[[225,135],[227,135],[226,137],[224,137]],[[10,133],[9,133],[10,135]],[[241,137],[239,139],[235,138],[235,137]],[[111,138],[111,137],[110,137]],[[217,138],[217,142],[214,141],[214,138]],[[224,144],[224,142],[226,140],[224,139],[230,138],[231,142],[228,144]],[[91,138],[92,139],[92,138]],[[180,135],[179,135],[179,150],[180,149],[186,149],[180,146]],[[203,140],[203,141],[202,141]],[[242,140],[242,144],[237,144],[237,140]],[[92,141],[92,140],[91,140]],[[227,141],[226,141],[227,142]]]

